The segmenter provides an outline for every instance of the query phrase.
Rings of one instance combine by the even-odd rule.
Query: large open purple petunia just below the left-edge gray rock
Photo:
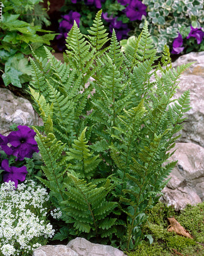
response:
[[[12,154],[17,157],[16,160],[22,161],[24,158],[31,158],[34,152],[39,152],[39,149],[34,139],[35,131],[26,125],[18,125],[18,129],[7,137],[8,143],[11,144]],[[8,151],[6,150],[5,153],[8,154]]]

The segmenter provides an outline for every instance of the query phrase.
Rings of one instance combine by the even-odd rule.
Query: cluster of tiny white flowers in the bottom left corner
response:
[[[45,189],[33,181],[14,187],[5,182],[0,187],[0,256],[31,253],[41,246],[38,241],[53,237],[44,207],[49,196]],[[41,239],[41,240],[40,240]]]

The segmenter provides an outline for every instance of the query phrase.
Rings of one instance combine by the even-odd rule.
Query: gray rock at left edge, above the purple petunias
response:
[[[41,125],[42,122],[28,100],[0,88],[0,134],[7,135],[12,124]]]

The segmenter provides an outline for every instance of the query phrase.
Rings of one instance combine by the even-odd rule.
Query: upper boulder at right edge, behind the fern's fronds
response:
[[[191,110],[181,131],[181,142],[193,142],[204,147],[204,52],[191,52],[173,62],[173,67],[195,62],[180,77],[180,89],[175,97],[190,90]]]

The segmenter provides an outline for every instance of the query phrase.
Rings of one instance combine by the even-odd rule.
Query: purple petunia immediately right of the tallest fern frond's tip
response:
[[[109,30],[112,33],[112,30],[115,30],[115,35],[117,37],[117,40],[121,40],[124,38],[127,38],[127,33],[130,31],[126,23],[122,23],[122,21],[117,21],[118,17],[113,18],[111,15],[110,17],[107,16],[107,13],[102,13],[102,18],[104,18],[105,21],[110,23]]]

